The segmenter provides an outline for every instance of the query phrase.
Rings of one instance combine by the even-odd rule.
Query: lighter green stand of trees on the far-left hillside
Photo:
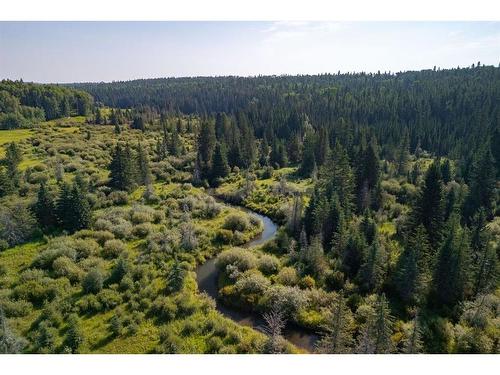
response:
[[[30,127],[67,116],[86,116],[93,98],[84,91],[57,85],[0,82],[0,129]]]

